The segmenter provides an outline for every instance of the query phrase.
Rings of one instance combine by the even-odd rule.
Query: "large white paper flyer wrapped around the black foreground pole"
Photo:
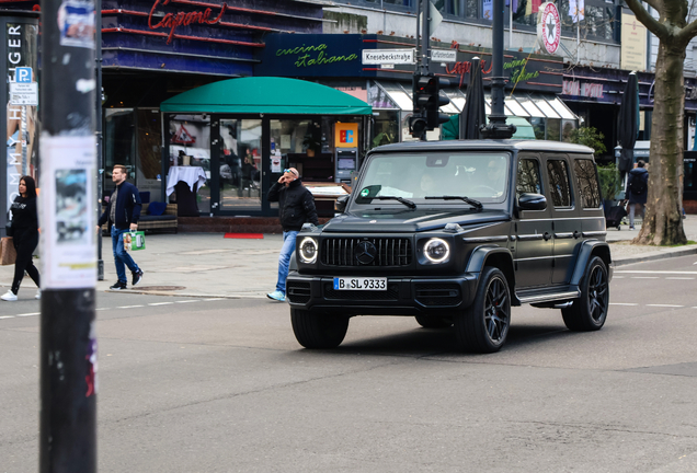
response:
[[[42,288],[96,286],[94,137],[42,136]]]

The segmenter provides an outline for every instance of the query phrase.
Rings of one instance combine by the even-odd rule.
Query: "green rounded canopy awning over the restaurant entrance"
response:
[[[160,104],[173,113],[370,115],[367,103],[327,85],[286,78],[240,78],[214,82]]]

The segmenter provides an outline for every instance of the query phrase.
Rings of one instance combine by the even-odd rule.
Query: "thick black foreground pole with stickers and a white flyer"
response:
[[[94,3],[41,0],[39,472],[96,471]]]

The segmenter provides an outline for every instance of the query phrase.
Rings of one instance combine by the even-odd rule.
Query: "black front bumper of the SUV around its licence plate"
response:
[[[452,314],[469,307],[479,273],[457,277],[389,277],[387,290],[334,290],[333,277],[290,272],[286,300],[295,309],[343,315]]]

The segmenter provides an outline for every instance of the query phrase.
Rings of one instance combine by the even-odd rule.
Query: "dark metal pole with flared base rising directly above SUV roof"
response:
[[[488,139],[510,139],[516,130],[514,125],[506,125],[503,105],[506,83],[503,76],[503,0],[493,0],[491,115],[489,124],[481,128],[482,136]]]

